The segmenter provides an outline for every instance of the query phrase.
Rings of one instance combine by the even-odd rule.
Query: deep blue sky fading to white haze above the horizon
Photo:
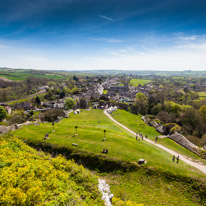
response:
[[[0,0],[0,66],[205,70],[204,0]]]

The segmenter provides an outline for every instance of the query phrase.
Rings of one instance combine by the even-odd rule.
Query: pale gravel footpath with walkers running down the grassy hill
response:
[[[128,132],[130,132],[131,134],[135,135],[136,136],[136,133],[133,132],[132,130],[130,130],[129,128],[125,127],[124,125],[120,124],[118,121],[116,121],[114,118],[112,118],[106,110],[104,110],[104,114],[107,115],[114,123],[118,124],[120,127],[122,127],[123,129],[127,130]],[[177,152],[171,150],[171,149],[168,149],[167,147],[161,145],[161,144],[158,144],[158,143],[155,143],[154,141],[152,140],[149,140],[149,139],[144,139],[145,141],[149,142],[150,144],[153,144],[154,146],[156,147],[159,147],[161,149],[163,149],[164,151],[170,153],[171,155],[175,155],[175,156],[180,156],[180,160],[184,161],[185,163],[199,169],[200,171],[202,171],[203,173],[206,174],[206,165],[202,165],[202,164],[199,164],[199,163],[196,163],[196,162],[193,162],[191,160],[189,160],[186,156],[183,156],[183,155],[180,155],[178,154]]]

